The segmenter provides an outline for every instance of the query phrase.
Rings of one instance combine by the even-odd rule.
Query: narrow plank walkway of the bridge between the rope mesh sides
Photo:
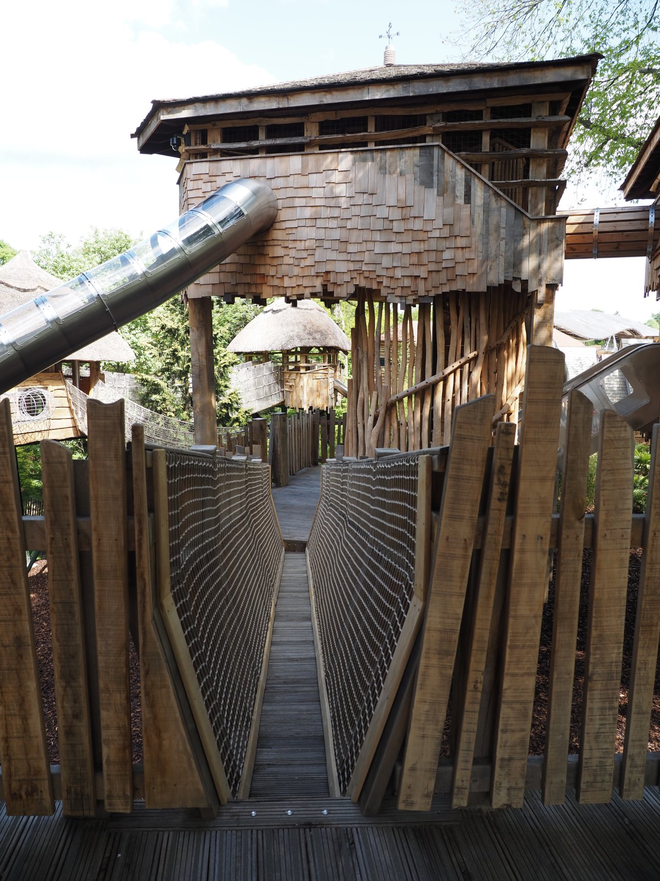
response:
[[[251,798],[328,795],[311,616],[304,553],[286,552]]]

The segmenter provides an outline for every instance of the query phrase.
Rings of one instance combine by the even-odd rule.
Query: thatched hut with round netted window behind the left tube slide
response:
[[[0,315],[61,284],[61,279],[34,263],[27,251],[19,251],[0,266]],[[14,441],[26,444],[79,437],[81,432],[67,380],[89,395],[103,379],[101,361],[126,362],[135,358],[128,343],[113,331],[96,343],[71,352],[63,363],[52,365],[21,382],[16,389],[10,389],[6,397],[11,402]]]

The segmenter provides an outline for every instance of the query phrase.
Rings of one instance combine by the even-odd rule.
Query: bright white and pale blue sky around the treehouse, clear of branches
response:
[[[466,34],[452,0],[34,0],[6,4],[0,31],[0,239],[36,249],[92,226],[148,234],[178,214],[176,158],[130,137],[152,99],[266,85],[382,63],[456,61]],[[615,193],[582,193],[584,205]],[[561,208],[574,207],[570,187]],[[557,308],[645,320],[643,258],[569,261]]]

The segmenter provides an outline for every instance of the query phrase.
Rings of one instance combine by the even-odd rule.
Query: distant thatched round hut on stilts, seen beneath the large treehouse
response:
[[[346,394],[339,353],[348,352],[350,342],[314,300],[275,300],[227,348],[245,356],[231,372],[231,385],[247,410],[278,403],[328,410]]]

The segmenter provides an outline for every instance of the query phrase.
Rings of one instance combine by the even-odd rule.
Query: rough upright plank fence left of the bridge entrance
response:
[[[88,459],[73,461],[59,443],[42,442],[44,514],[24,516],[11,410],[0,402],[0,799],[10,815],[51,814],[61,798],[66,815],[94,817],[132,811],[143,797],[147,807],[212,816],[224,796],[161,608],[170,549],[156,459],[165,451],[145,448],[142,426],[126,450],[123,401],[90,400],[87,418]],[[245,506],[245,488],[240,497]],[[26,547],[48,557],[58,766],[48,757]],[[141,764],[132,753],[131,638]]]

